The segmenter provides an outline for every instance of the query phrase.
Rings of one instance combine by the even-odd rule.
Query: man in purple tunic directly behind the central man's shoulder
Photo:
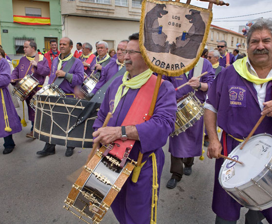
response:
[[[107,82],[109,81],[118,71],[120,71],[124,66],[125,63],[131,61],[124,61],[124,56],[126,55],[126,49],[129,40],[122,40],[117,45],[117,59],[111,60],[109,64],[107,64],[101,70],[101,77],[97,82],[94,90],[92,91],[93,95],[97,93],[97,91]],[[126,69],[123,68],[122,72],[119,75],[124,75]]]

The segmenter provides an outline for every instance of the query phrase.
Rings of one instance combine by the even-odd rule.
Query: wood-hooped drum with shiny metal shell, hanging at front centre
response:
[[[63,206],[88,224],[99,224],[118,192],[130,176],[135,164],[120,162],[112,155],[102,156],[105,146],[97,150],[72,186]]]

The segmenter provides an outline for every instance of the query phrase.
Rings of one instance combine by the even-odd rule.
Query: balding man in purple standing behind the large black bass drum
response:
[[[48,80],[48,84],[53,82],[58,83],[58,87],[66,94],[68,97],[74,97],[74,89],[76,86],[81,86],[83,83],[84,67],[82,62],[78,58],[73,58],[71,50],[73,48],[73,41],[68,37],[62,37],[59,41],[59,51],[60,55],[56,57],[52,63],[52,71]],[[74,60],[72,64],[70,60]],[[71,64],[70,64],[71,63]],[[68,71],[67,67],[69,68]],[[66,67],[66,69],[65,69]],[[63,81],[59,83],[57,77],[64,77]],[[61,80],[61,79],[60,79]],[[38,155],[46,156],[55,154],[55,144],[46,143],[44,148],[37,151]],[[69,157],[73,155],[75,147],[67,147],[65,156]]]

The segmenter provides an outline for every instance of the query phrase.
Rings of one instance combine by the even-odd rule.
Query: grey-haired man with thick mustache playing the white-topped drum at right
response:
[[[259,19],[251,26],[247,51],[248,57],[235,61],[216,76],[205,104],[204,121],[210,139],[207,155],[216,158],[212,205],[216,224],[236,224],[241,208],[219,184],[218,174],[224,161],[218,154],[231,153],[261,115],[266,117],[254,135],[272,134],[272,19]],[[216,120],[223,129],[221,142]],[[245,223],[260,224],[264,217],[272,223],[272,208],[249,210]]]

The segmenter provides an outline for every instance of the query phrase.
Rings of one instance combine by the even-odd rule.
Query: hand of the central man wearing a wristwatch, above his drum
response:
[[[116,139],[119,139],[121,134],[121,127],[99,128],[97,131],[93,132],[93,136],[95,137],[94,143],[100,142],[102,145],[107,145],[114,142]]]

